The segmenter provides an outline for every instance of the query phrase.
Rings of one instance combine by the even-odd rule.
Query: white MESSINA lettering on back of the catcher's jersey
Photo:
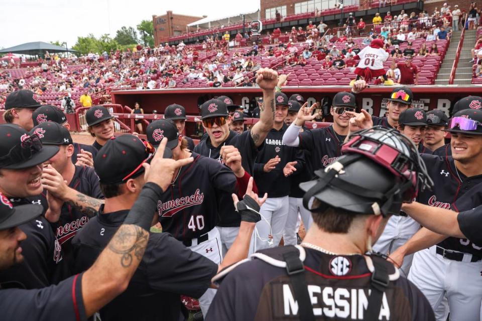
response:
[[[282,286],[284,316],[297,315],[298,302],[295,300],[290,286],[288,284]],[[369,290],[308,285],[308,293],[315,316],[325,315],[330,318],[351,320],[365,319],[364,313],[368,307]],[[390,306],[385,293],[383,293],[379,320],[390,320]]]

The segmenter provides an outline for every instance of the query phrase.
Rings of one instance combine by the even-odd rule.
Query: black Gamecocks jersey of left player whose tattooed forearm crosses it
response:
[[[88,166],[76,166],[75,173],[69,187],[90,197],[103,199],[99,187],[99,177],[93,168]],[[89,220],[87,215],[80,212],[70,204],[64,203],[60,212],[60,219],[53,224],[56,229],[57,240],[62,246],[64,253],[70,251],[70,241]]]

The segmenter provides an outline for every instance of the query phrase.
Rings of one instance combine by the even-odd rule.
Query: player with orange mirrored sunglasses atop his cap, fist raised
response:
[[[357,80],[354,82],[351,92],[358,94],[368,87],[365,80]],[[388,116],[377,117],[372,115],[374,125],[380,125],[388,128],[397,128],[400,113],[411,107],[413,100],[412,90],[408,87],[395,87],[388,98],[387,110]]]

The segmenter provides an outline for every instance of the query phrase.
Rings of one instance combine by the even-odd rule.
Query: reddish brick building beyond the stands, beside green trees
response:
[[[177,36],[185,33],[187,25],[198,21],[203,17],[185,16],[173,14],[172,11],[166,12],[165,15],[152,16],[154,24],[154,44],[159,46],[161,42],[165,42],[169,37]]]

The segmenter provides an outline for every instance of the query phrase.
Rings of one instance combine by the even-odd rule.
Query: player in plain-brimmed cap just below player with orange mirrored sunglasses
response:
[[[407,136],[420,151],[422,136],[426,126],[427,117],[425,111],[420,108],[410,108],[400,114],[398,129],[400,133]],[[405,244],[417,231],[420,224],[405,213],[392,216],[385,226],[385,230],[380,236],[377,244],[373,246],[374,251],[388,255],[400,246]],[[412,265],[413,255],[407,255],[400,266],[402,274],[407,277]]]

